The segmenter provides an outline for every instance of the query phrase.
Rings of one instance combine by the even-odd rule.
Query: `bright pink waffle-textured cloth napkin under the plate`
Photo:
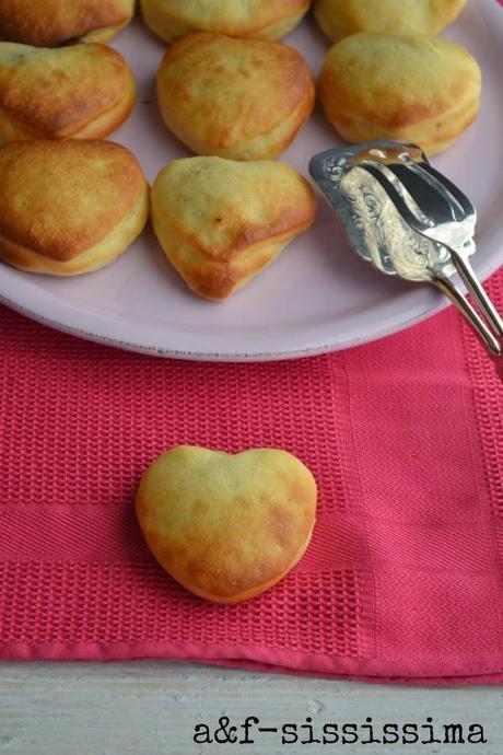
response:
[[[491,294],[503,310],[503,272]],[[454,311],[346,352],[206,364],[0,307],[0,353],[1,658],[503,681],[503,388]],[[133,493],[178,443],[314,472],[313,543],[264,596],[204,603],[148,553]]]

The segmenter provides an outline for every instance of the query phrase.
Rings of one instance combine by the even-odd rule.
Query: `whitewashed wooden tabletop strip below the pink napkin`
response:
[[[410,753],[502,755],[503,687],[367,685],[234,672],[175,663],[4,663],[0,665],[0,755],[201,755],[229,753]],[[483,725],[488,744],[196,744],[195,727],[248,716],[260,725],[435,721]],[[302,733],[302,730],[299,730]],[[306,734],[307,736],[307,734]]]

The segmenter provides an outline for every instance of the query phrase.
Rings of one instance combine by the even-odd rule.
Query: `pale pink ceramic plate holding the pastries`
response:
[[[483,70],[480,117],[434,164],[464,189],[479,211],[475,267],[486,278],[503,263],[503,10],[471,0],[446,36],[460,42]],[[329,43],[307,19],[286,43],[319,71]],[[139,158],[148,177],[189,153],[163,127],[155,72],[164,45],[137,21],[114,46],[132,67],[138,105],[112,137]],[[316,113],[283,160],[307,176],[311,156],[339,142]],[[112,267],[72,279],[19,272],[0,264],[0,300],[24,314],[83,338],[202,360],[289,359],[337,350],[402,329],[447,301],[431,287],[387,278],[348,247],[319,199],[315,225],[271,267],[223,303],[190,293],[151,231]]]

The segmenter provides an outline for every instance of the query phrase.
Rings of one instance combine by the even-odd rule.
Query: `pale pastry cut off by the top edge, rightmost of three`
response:
[[[456,21],[466,0],[315,0],[314,13],[327,37],[349,34],[438,34]]]

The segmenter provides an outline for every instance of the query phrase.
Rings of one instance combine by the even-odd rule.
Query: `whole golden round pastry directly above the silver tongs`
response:
[[[347,141],[390,138],[435,154],[476,118],[480,89],[479,65],[453,42],[355,34],[330,49],[318,94]]]

